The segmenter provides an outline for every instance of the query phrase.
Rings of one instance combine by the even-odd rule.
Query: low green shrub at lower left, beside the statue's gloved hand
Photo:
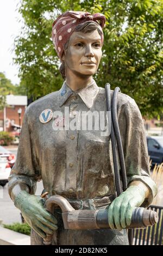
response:
[[[13,231],[16,231],[18,233],[22,233],[25,235],[30,235],[30,227],[27,223],[13,223],[12,225],[3,225],[4,228],[11,229]]]

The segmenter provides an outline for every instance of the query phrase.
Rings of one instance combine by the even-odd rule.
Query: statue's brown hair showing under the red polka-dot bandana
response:
[[[95,21],[85,21],[84,23],[81,23],[78,26],[76,26],[74,31],[83,32],[84,34],[86,34],[86,33],[90,33],[92,31],[95,31],[96,29],[97,29],[99,35],[102,36],[103,35],[102,28]],[[64,45],[64,51],[67,50],[68,43],[69,43],[69,39],[67,40],[66,44]],[[60,71],[60,74],[61,74],[62,78],[64,78],[64,80],[65,80],[66,76],[65,76],[65,62],[64,61],[62,61],[61,65],[59,67],[59,71]]]

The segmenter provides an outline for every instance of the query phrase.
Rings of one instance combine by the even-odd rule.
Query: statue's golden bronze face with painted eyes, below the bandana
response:
[[[62,59],[66,70],[79,76],[92,76],[102,57],[102,40],[97,29],[91,33],[73,32]]]

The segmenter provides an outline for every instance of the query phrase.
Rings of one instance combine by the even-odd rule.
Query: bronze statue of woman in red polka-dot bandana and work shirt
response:
[[[102,57],[104,25],[103,14],[83,11],[66,11],[53,23],[53,44],[65,81],[58,92],[26,109],[8,186],[32,227],[32,245],[41,245],[47,234],[53,234],[53,245],[128,245],[126,227],[133,209],[148,206],[156,194],[141,113],[131,97],[117,97],[128,188],[116,198],[110,135],[95,129],[95,121],[92,130],[65,129],[65,109],[70,120],[81,112],[106,113],[105,89],[93,80]],[[54,117],[56,112],[63,118]],[[65,197],[74,209],[108,209],[111,229],[65,230],[60,211],[51,215],[44,200],[35,196],[40,180],[49,195]]]

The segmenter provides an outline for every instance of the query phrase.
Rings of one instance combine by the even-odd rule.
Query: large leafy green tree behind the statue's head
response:
[[[51,40],[52,22],[66,10],[106,16],[103,59],[95,76],[98,86],[133,97],[143,115],[163,112],[162,0],[22,0],[22,33],[15,39],[15,63],[21,84],[34,99],[62,84],[59,59]]]

